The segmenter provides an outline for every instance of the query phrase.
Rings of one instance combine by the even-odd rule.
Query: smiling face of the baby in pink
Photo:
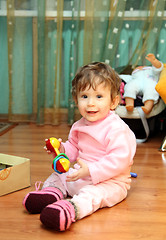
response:
[[[104,119],[112,106],[111,89],[101,83],[94,90],[87,87],[77,95],[77,106],[80,114],[88,121]]]

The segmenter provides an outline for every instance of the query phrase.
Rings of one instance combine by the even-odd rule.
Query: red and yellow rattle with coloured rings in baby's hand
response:
[[[60,142],[58,139],[51,137],[46,140],[46,147],[51,152],[56,154],[56,157],[53,160],[52,168],[55,172],[62,174],[69,170],[70,161],[69,158],[66,156],[65,153],[59,152]]]

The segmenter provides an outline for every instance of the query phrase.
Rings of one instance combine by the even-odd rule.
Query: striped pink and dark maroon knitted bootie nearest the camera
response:
[[[48,228],[65,231],[75,222],[74,206],[67,200],[57,201],[43,209],[40,220]]]

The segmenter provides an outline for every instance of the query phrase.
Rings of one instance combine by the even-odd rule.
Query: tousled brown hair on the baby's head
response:
[[[92,62],[79,69],[72,81],[72,96],[77,101],[77,94],[87,87],[96,89],[97,85],[104,83],[111,88],[111,99],[120,93],[121,79],[107,64]]]

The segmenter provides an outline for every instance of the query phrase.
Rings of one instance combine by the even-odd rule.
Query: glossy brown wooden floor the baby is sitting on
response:
[[[163,135],[139,144],[134,158],[128,198],[113,208],[105,208],[76,223],[66,232],[45,229],[39,215],[24,211],[22,200],[52,172],[51,157],[43,150],[44,139],[67,139],[67,125],[18,125],[0,136],[0,152],[31,159],[32,186],[0,197],[1,240],[165,240],[166,239],[166,153],[158,151]]]

